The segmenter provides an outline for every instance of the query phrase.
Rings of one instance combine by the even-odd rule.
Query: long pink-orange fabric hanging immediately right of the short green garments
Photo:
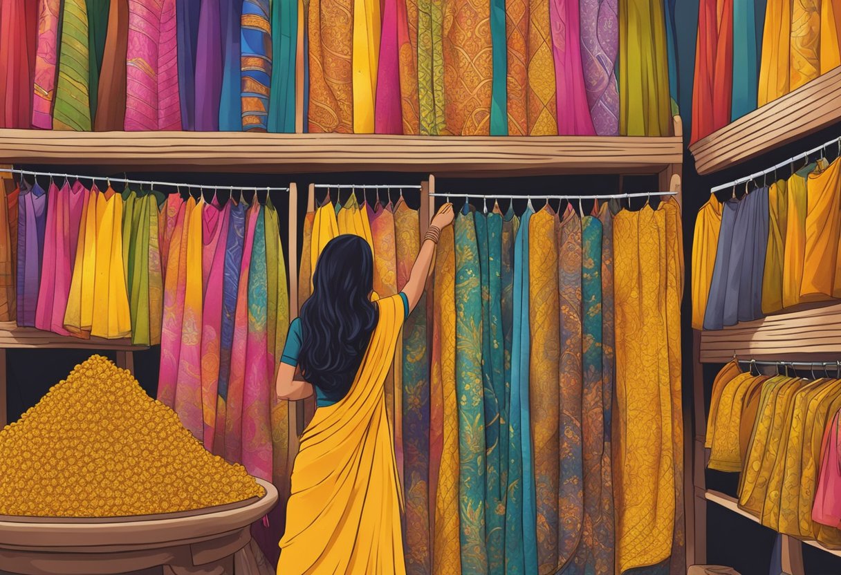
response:
[[[173,200],[173,197],[175,198]],[[172,202],[172,203],[171,203]],[[177,194],[167,198],[169,208],[177,206],[173,221],[172,238],[167,243],[168,257],[164,267],[163,322],[161,324],[161,371],[158,375],[157,398],[169,407],[175,406],[175,388],[178,379],[178,359],[181,356],[181,327],[184,317],[185,282],[179,278],[179,263],[187,257],[188,223],[184,221],[187,204]],[[186,266],[183,267],[186,274]]]

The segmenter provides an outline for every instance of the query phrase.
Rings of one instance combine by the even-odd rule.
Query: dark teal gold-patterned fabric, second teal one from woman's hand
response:
[[[505,573],[505,507],[500,485],[500,437],[508,440],[508,428],[500,417],[500,398],[505,395],[505,366],[500,305],[502,216],[476,214],[476,242],[482,286],[482,379],[484,383],[485,446],[485,545],[488,573]],[[503,435],[503,431],[505,434]]]

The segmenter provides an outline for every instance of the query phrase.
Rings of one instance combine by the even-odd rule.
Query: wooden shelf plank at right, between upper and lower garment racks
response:
[[[841,303],[822,303],[723,330],[701,331],[701,362],[725,363],[734,353],[757,360],[841,359]]]

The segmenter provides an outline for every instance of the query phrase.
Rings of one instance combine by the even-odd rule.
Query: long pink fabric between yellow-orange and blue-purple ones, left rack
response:
[[[204,405],[204,448],[214,449],[216,400],[219,384],[220,333],[222,330],[222,284],[225,280],[225,242],[228,238],[231,203],[220,209],[214,202],[204,208],[202,220],[202,404]]]

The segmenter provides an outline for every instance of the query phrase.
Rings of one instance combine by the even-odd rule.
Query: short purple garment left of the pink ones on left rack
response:
[[[44,259],[46,193],[36,182],[18,200],[18,325],[34,327]]]

